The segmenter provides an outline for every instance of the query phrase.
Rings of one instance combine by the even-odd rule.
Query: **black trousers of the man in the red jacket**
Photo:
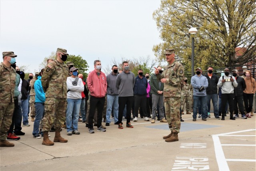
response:
[[[95,109],[97,108],[97,127],[101,127],[102,113],[105,103],[105,97],[90,97],[90,110],[89,110],[89,128],[93,128],[93,117]]]

